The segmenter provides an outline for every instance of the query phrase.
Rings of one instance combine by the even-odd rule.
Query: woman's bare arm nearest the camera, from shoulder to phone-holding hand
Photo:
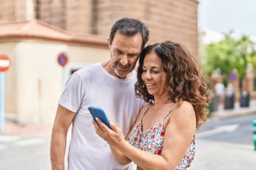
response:
[[[142,169],[174,169],[177,167],[185,156],[195,132],[195,113],[193,106],[188,102],[183,102],[180,108],[172,111],[166,126],[161,155],[141,151],[126,142],[123,132],[112,122],[110,126],[113,130],[110,130],[100,120],[97,122],[100,125],[94,122],[97,134]]]

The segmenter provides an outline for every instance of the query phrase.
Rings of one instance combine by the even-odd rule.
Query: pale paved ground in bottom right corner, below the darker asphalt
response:
[[[197,140],[195,159],[189,170],[256,169],[253,145]]]

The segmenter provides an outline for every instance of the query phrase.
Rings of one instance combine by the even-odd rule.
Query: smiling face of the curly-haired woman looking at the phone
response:
[[[145,82],[150,95],[164,95],[166,73],[164,73],[161,58],[155,52],[146,54],[141,78]]]

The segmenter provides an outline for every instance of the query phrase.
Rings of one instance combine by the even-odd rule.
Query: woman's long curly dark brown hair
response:
[[[135,83],[136,96],[142,97],[148,103],[154,103],[154,96],[148,93],[141,78],[144,58],[150,52],[155,52],[162,60],[166,73],[165,90],[168,98],[175,103],[181,101],[191,103],[195,110],[198,128],[205,122],[208,114],[205,108],[210,103],[210,97],[207,95],[207,82],[195,58],[181,44],[166,41],[146,46],[142,50],[137,69],[137,83]]]

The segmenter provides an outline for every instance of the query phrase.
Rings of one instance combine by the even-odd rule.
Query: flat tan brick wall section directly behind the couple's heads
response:
[[[195,0],[130,0],[127,3],[97,0],[91,33],[108,36],[110,27],[117,19],[135,17],[148,24],[148,44],[172,40],[183,44],[197,57],[197,5]]]

